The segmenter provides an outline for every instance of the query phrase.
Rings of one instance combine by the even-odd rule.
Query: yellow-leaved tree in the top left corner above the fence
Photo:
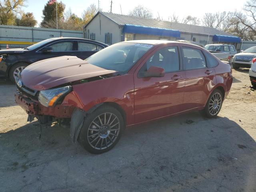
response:
[[[0,24],[15,25],[16,15],[22,13],[24,0],[4,0],[0,1]]]

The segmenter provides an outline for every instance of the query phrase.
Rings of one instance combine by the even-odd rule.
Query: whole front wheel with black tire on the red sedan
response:
[[[105,114],[106,114],[106,117],[105,117]],[[100,120],[99,120],[99,116],[100,116]],[[114,120],[114,118],[116,119]],[[100,121],[102,121],[102,124]],[[119,124],[117,124],[118,121],[119,121]],[[100,127],[96,126],[96,124],[94,124],[93,122]],[[110,124],[111,122],[112,124]],[[115,124],[117,124],[116,126],[114,126],[115,131],[110,131],[112,130],[111,126]],[[117,130],[118,128],[119,130]],[[122,114],[116,108],[113,108],[111,106],[107,106],[107,105],[101,106],[96,110],[94,110],[94,112],[92,112],[91,114],[88,114],[84,118],[84,124],[78,136],[78,142],[88,152],[92,154],[101,154],[109,151],[117,144],[117,142],[119,141],[122,135],[123,129],[124,129],[124,118],[122,117]]]

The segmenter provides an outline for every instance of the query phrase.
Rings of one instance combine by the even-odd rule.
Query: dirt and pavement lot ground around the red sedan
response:
[[[183,114],[125,130],[107,153],[72,144],[69,129],[26,122],[15,86],[0,82],[0,191],[256,191],[256,91],[248,69],[219,117]],[[187,120],[192,120],[191,124]]]

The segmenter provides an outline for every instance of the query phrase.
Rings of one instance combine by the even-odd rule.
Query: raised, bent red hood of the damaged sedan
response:
[[[24,86],[45,90],[68,82],[114,73],[77,58],[61,56],[35,62],[21,72]]]

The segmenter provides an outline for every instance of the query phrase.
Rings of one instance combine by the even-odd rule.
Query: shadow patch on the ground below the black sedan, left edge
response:
[[[16,106],[14,92],[16,86],[10,80],[0,80],[0,107]]]

